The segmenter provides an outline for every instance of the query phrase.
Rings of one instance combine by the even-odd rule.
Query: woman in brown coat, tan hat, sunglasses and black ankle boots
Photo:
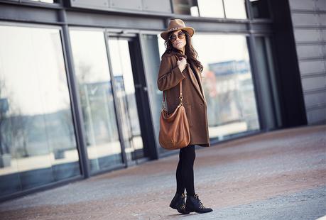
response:
[[[182,80],[183,106],[190,126],[190,143],[180,149],[176,170],[177,192],[170,202],[170,207],[177,209],[181,214],[212,211],[211,208],[203,206],[198,194],[195,194],[194,187],[195,145],[210,147],[207,105],[201,82],[202,65],[197,60],[197,53],[192,48],[190,39],[194,33],[195,30],[186,27],[182,20],[170,20],[168,31],[161,33],[166,50],[161,57],[158,71],[158,89],[165,91],[168,114],[180,103],[179,82]]]

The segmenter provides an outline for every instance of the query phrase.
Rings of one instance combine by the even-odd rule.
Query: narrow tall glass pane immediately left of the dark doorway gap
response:
[[[109,52],[121,111],[121,128],[124,133],[126,157],[127,160],[136,160],[143,157],[143,140],[138,119],[128,40],[109,39]]]

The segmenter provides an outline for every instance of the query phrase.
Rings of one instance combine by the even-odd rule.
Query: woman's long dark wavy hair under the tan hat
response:
[[[195,50],[195,48],[192,47],[191,37],[190,37],[189,33],[184,30],[181,30],[181,31],[183,31],[183,33],[185,33],[185,42],[186,42],[185,55],[187,56],[190,64],[194,65],[195,67],[197,67],[200,70],[200,72],[202,72],[203,66],[202,66],[201,62],[199,60],[197,60],[198,54],[197,54],[197,51]],[[164,42],[166,50],[163,53],[163,55],[165,53],[177,53],[178,55],[183,56],[183,52],[181,50],[174,48],[173,44],[170,42],[170,35],[172,35],[172,33],[173,33],[173,31],[170,31],[170,33],[168,33],[168,38],[166,38],[166,40]]]

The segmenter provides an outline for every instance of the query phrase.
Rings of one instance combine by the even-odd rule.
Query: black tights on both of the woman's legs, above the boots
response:
[[[182,194],[187,191],[187,194],[194,195],[194,161],[196,158],[195,145],[188,145],[180,149],[179,163],[177,167],[177,192]]]

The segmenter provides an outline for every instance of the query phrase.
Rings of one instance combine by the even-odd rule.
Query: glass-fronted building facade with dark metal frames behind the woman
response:
[[[158,144],[171,18],[196,31],[212,144],[325,123],[325,13],[322,0],[1,0],[0,201],[177,153]]]

